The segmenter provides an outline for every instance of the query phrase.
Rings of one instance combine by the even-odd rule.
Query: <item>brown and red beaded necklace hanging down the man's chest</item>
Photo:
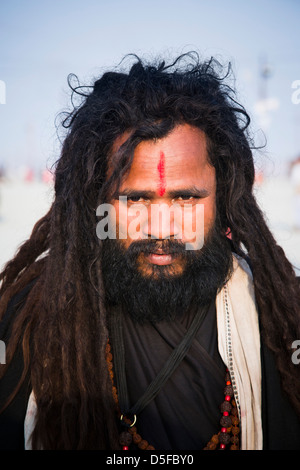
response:
[[[141,450],[155,450],[155,448],[151,444],[149,444],[145,439],[140,436],[140,434],[138,434],[137,427],[135,426],[136,415],[134,415],[132,420],[121,414],[119,407],[118,392],[114,384],[114,372],[112,361],[112,351],[110,343],[108,341],[106,346],[106,362],[109,370],[109,375],[112,381],[112,394],[116,404],[120,422],[126,428],[126,430],[122,431],[119,435],[119,443],[122,446],[122,450],[130,450],[131,445],[136,445]],[[228,369],[226,369],[225,382],[226,385],[224,388],[224,402],[220,406],[220,412],[222,414],[220,419],[221,429],[218,434],[214,434],[212,436],[211,440],[207,443],[203,450],[239,450],[240,428],[238,410],[234,399],[234,393]]]

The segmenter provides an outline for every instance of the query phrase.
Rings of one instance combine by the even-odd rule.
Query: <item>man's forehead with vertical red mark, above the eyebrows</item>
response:
[[[162,184],[166,189],[212,186],[214,178],[204,132],[183,124],[162,139],[144,141],[136,147],[121,189],[156,189],[159,192]]]

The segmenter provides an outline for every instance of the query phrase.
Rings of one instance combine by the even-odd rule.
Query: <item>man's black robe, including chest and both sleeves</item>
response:
[[[1,340],[8,340],[11,320],[22,308],[32,284],[11,300],[0,324]],[[126,374],[132,402],[140,397],[171,349],[178,344],[189,322],[187,316],[176,321],[172,328],[164,323],[138,327],[139,334],[130,319],[124,322]],[[300,450],[300,420],[281,390],[274,358],[263,343],[261,361],[263,448]],[[19,348],[0,382],[0,407],[17,384],[22,368]],[[225,366],[217,350],[213,303],[184,362],[139,416],[138,432],[156,449],[202,449],[220,430],[224,372]],[[30,392],[28,375],[14,401],[0,414],[0,450],[24,449],[24,419]]]

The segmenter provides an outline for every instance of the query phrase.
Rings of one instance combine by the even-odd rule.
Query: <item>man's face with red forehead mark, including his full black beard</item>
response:
[[[115,151],[127,137],[117,140]],[[108,306],[121,305],[136,322],[155,323],[214,299],[232,255],[216,214],[215,170],[203,132],[180,125],[165,138],[140,143],[112,203],[117,239],[104,237],[101,252]],[[173,205],[176,211],[168,213]],[[153,208],[162,206],[157,217]]]

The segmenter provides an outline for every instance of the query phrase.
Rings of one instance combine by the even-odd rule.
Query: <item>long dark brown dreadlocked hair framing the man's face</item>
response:
[[[134,56],[127,72],[106,72],[91,90],[71,85],[81,101],[63,121],[52,206],[1,274],[1,317],[13,296],[35,281],[13,321],[1,367],[3,375],[21,344],[24,372],[8,403],[29,373],[37,402],[33,448],[119,448],[105,360],[96,208],[117,194],[140,142],[183,123],[206,135],[222,228],[230,228],[235,251],[251,260],[262,337],[300,415],[300,382],[291,360],[292,342],[300,338],[299,286],[253,195],[250,118],[226,84],[230,73],[230,66],[224,73],[219,62],[201,62],[196,53],[170,65]],[[113,151],[124,133],[127,140]]]

